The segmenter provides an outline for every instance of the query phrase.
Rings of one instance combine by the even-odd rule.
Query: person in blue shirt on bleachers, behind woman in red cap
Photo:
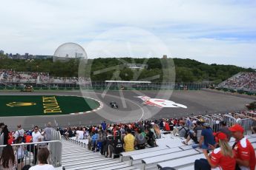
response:
[[[197,146],[200,146],[200,148],[208,150],[209,144],[214,146],[214,135],[209,126],[209,123],[203,123],[203,130],[201,132],[199,144],[194,144],[192,147],[197,148]]]

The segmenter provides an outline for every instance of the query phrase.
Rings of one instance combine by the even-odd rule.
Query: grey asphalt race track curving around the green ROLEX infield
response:
[[[1,117],[0,122],[8,125],[9,129],[16,129],[16,125],[22,124],[30,129],[35,125],[46,126],[48,121],[56,126],[98,124],[103,120],[107,122],[130,122],[151,118],[180,118],[184,115],[204,115],[211,113],[226,113],[246,109],[245,105],[255,101],[250,98],[241,98],[232,95],[217,94],[198,91],[35,91],[16,92],[0,91],[0,95],[76,95],[94,98],[102,101],[103,107],[96,112],[82,115],[52,115],[33,117]],[[187,106],[184,108],[160,108],[157,106],[145,106],[139,95],[150,98],[160,98]],[[115,101],[119,109],[112,109],[110,102]],[[75,107],[75,106],[74,106]]]

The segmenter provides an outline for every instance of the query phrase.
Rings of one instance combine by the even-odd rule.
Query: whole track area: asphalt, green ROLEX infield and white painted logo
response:
[[[119,108],[111,108],[111,101],[116,102]],[[17,124],[22,124],[24,128],[45,126],[49,121],[55,126],[89,125],[103,120],[127,123],[191,114],[235,112],[245,110],[245,105],[252,101],[255,99],[203,90],[0,91],[0,121],[9,124],[10,129],[15,129]],[[28,106],[16,106],[19,104]]]

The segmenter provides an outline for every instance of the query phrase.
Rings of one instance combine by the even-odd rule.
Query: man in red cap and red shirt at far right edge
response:
[[[255,170],[255,149],[253,149],[249,140],[243,136],[243,127],[235,124],[230,127],[229,130],[236,139],[232,148],[237,154],[237,166],[239,166],[240,169]]]

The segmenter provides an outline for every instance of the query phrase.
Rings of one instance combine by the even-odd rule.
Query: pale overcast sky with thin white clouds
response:
[[[255,0],[8,0],[0,23],[8,53],[53,55],[74,42],[88,58],[166,54],[256,67]]]

